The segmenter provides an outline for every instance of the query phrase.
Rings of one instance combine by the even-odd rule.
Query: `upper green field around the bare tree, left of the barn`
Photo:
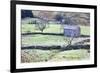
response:
[[[41,31],[37,30],[34,24],[22,24],[22,33],[28,33],[28,32],[41,32]],[[63,33],[63,30],[61,30],[60,25],[52,24],[52,25],[48,25],[44,29],[43,32],[44,33]]]

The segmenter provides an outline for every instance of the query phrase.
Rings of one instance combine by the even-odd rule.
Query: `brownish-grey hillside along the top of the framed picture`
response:
[[[45,20],[55,21],[57,16],[62,17],[69,17],[71,20],[78,25],[90,25],[90,13],[82,13],[82,12],[55,12],[55,11],[28,11],[28,10],[22,10],[25,13],[22,13],[22,15],[25,15],[26,17],[33,18],[42,18]],[[66,19],[65,19],[66,20]]]

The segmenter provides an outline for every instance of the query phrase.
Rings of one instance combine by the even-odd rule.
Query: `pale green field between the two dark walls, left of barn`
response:
[[[64,36],[54,35],[32,35],[30,37],[22,37],[22,44],[25,45],[64,45]]]

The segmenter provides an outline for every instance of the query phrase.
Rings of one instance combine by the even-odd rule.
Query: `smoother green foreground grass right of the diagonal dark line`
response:
[[[87,50],[71,50],[71,51],[63,51],[59,54],[56,54],[52,60],[53,61],[60,61],[60,60],[83,60],[88,59],[89,53]]]

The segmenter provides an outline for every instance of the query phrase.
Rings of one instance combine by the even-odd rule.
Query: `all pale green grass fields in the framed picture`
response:
[[[81,35],[90,35],[90,27],[89,26],[80,26]],[[32,24],[22,24],[22,32],[21,33],[34,33],[41,32],[40,30],[36,30],[35,26]],[[49,25],[46,29],[44,29],[43,33],[63,33],[63,29],[61,29],[60,25]],[[22,36],[22,46],[24,45],[65,45],[66,41],[64,40],[64,36],[54,36],[54,35],[26,35]],[[77,41],[77,40],[76,40]],[[41,49],[24,49],[21,50],[21,62],[22,63],[30,63],[30,62],[47,62],[47,61],[74,61],[74,60],[88,60],[90,57],[90,53],[88,50],[78,49],[78,50],[53,50],[52,48],[49,50],[41,50]]]

